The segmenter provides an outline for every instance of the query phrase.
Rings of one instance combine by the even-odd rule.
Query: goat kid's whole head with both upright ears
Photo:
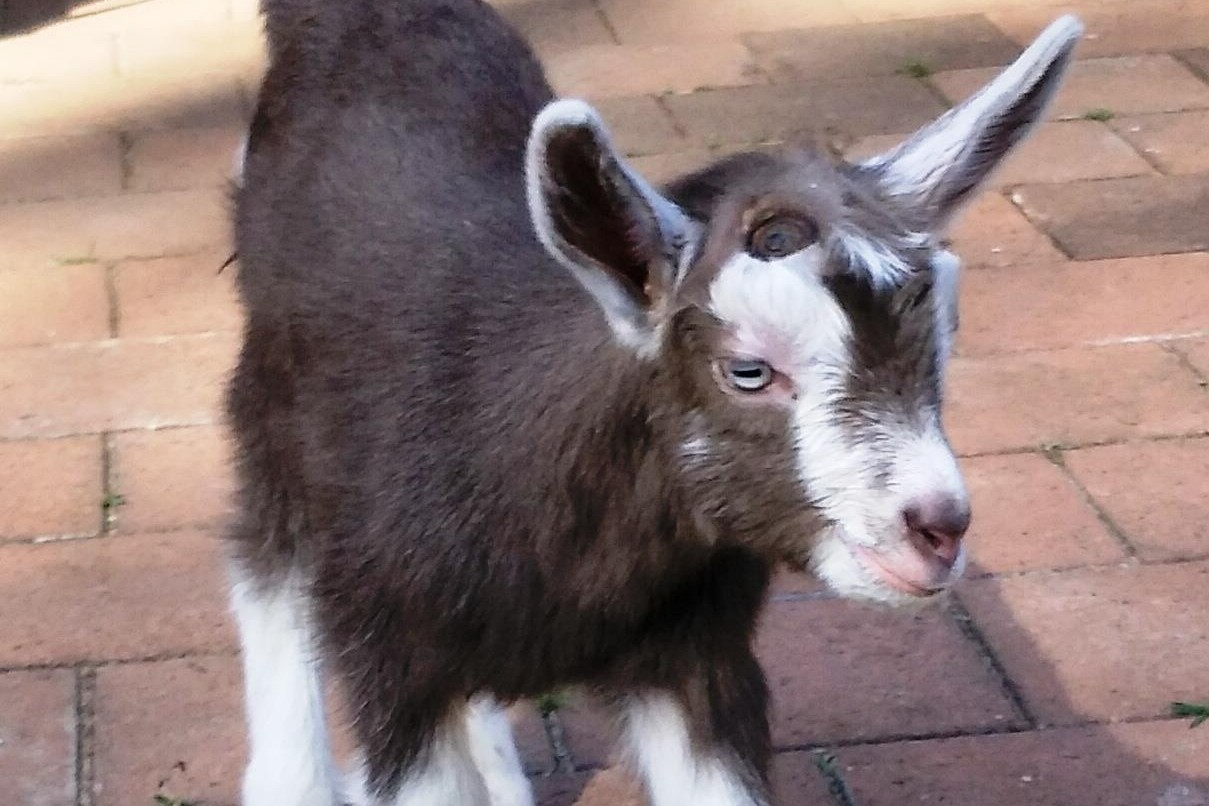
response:
[[[705,533],[809,562],[841,593],[944,590],[970,506],[941,425],[954,211],[1040,118],[1081,27],[1052,24],[964,104],[856,166],[741,155],[653,190],[590,106],[537,118],[545,247],[656,363]]]

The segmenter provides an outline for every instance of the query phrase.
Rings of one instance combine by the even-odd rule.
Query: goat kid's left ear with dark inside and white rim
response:
[[[623,342],[649,343],[652,308],[671,290],[693,222],[625,164],[579,100],[556,100],[537,116],[525,170],[538,238]]]

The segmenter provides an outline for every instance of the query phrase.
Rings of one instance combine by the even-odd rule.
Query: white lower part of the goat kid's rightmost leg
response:
[[[684,709],[671,696],[643,695],[626,708],[626,741],[652,806],[767,806],[734,764],[694,752]]]

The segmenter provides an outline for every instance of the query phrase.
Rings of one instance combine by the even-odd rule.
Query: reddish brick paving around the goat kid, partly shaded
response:
[[[786,138],[868,152],[1058,8],[502,5],[656,179]],[[779,586],[785,804],[1209,802],[1209,726],[1167,717],[1209,697],[1209,4],[1082,11],[1052,121],[956,232],[977,567],[918,614]],[[215,272],[258,33],[250,1],[132,0],[0,40],[0,804],[235,802]],[[631,796],[584,704],[517,723],[543,804]]]

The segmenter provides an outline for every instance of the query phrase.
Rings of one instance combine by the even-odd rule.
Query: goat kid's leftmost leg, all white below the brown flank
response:
[[[243,644],[251,748],[244,806],[334,806],[323,689],[300,586],[290,580],[260,588],[237,579],[231,602]]]

